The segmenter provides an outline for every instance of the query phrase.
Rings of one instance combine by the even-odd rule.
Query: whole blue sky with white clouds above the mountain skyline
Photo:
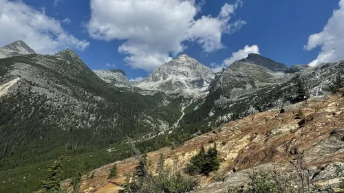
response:
[[[0,47],[17,40],[129,80],[180,54],[213,71],[249,53],[315,66],[344,60],[344,0],[0,0]]]

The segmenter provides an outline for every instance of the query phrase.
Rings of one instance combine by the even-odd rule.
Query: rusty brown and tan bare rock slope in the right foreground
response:
[[[149,170],[157,167],[160,153],[166,157],[166,165],[183,170],[201,146],[207,149],[216,141],[224,161],[219,171],[197,177],[201,183],[195,192],[226,192],[228,185],[240,187],[250,174],[260,170],[291,174],[292,160],[298,155],[303,155],[310,168],[313,189],[338,190],[344,179],[344,89],[288,106],[285,113],[280,110],[229,122],[177,148],[149,152]],[[133,157],[117,161],[118,177],[109,180],[114,163],[93,170],[83,177],[79,192],[118,192],[137,163]]]

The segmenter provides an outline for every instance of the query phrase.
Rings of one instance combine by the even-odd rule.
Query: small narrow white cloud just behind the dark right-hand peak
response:
[[[230,56],[230,58],[226,58],[221,65],[214,65],[214,63],[212,63],[213,65],[211,65],[211,70],[214,72],[219,72],[222,70],[222,68],[228,67],[235,61],[247,58],[248,54],[259,54],[259,47],[257,45],[246,45],[244,49],[239,49],[238,52],[233,52],[232,56]]]

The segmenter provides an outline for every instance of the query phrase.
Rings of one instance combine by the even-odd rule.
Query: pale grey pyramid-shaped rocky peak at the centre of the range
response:
[[[155,69],[136,86],[165,93],[193,95],[205,91],[214,77],[211,69],[183,54]]]

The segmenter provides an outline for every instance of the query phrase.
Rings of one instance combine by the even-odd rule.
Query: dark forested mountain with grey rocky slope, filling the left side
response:
[[[112,87],[70,49],[0,59],[0,171],[160,133],[180,118],[171,102]]]

